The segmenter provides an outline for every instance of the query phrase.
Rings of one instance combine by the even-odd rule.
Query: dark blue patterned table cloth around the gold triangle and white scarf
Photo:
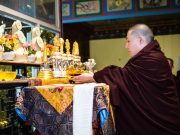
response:
[[[112,119],[108,112],[109,95],[106,96],[104,93],[105,88],[102,86],[98,86],[94,90],[93,135],[101,135],[100,132],[111,135],[113,132]],[[27,120],[33,124],[42,135],[72,135],[72,103],[64,112],[58,113],[35,87],[25,87],[21,97],[23,97],[23,100],[20,106],[16,107],[17,114],[24,121]]]

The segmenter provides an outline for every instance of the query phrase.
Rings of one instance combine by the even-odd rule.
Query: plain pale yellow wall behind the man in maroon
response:
[[[155,37],[162,51],[167,57],[174,60],[173,73],[180,70],[180,34],[164,35]],[[107,65],[124,66],[129,60],[127,50],[125,49],[125,38],[90,40],[90,57],[96,61],[94,69],[100,70]],[[180,63],[179,63],[180,64]]]

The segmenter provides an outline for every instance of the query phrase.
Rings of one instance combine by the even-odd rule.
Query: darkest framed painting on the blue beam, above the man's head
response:
[[[170,6],[169,0],[138,0],[139,9],[158,9]]]

